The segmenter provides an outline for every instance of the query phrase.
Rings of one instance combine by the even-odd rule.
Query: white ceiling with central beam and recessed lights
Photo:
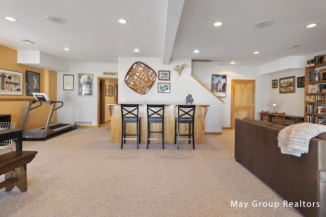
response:
[[[0,45],[41,51],[67,63],[158,57],[162,64],[170,58],[191,58],[261,66],[325,50],[325,11],[324,0],[0,0]],[[48,15],[68,23],[52,23]],[[120,24],[121,18],[128,23]],[[262,20],[274,24],[253,27]],[[223,25],[214,27],[215,21]],[[312,22],[318,25],[305,27]],[[289,49],[293,45],[300,47]]]

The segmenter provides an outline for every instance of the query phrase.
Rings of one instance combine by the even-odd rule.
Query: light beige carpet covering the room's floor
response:
[[[207,135],[195,150],[134,143],[121,150],[110,127],[79,128],[24,141],[23,150],[38,151],[27,166],[28,191],[0,190],[0,216],[302,216],[234,160],[234,130]],[[255,200],[280,207],[253,207]]]

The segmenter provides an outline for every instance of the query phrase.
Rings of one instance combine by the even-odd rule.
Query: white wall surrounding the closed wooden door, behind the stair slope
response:
[[[269,75],[258,75],[258,67],[219,66],[213,61],[193,60],[193,75],[209,89],[211,88],[212,74],[227,75],[226,98],[221,98],[225,102],[222,106],[222,127],[231,126],[231,80],[233,79],[256,80],[256,119],[260,119],[259,112],[261,110],[269,107]],[[216,111],[216,113],[218,112]]]

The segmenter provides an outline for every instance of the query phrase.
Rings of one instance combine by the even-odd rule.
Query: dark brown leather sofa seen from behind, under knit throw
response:
[[[283,128],[236,119],[235,160],[284,198],[280,206],[288,202],[305,216],[326,216],[326,133],[312,138],[309,153],[299,158],[281,153],[277,136]]]

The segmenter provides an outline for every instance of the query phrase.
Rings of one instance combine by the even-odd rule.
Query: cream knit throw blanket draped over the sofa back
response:
[[[316,123],[296,123],[282,129],[278,134],[278,146],[281,153],[292,154],[301,157],[302,153],[308,153],[310,139],[326,132],[326,126]]]

